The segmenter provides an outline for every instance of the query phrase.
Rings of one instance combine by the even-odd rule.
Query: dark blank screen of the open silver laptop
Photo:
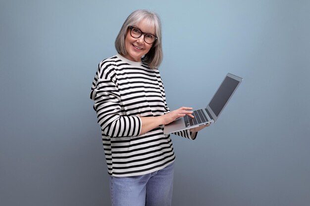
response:
[[[216,117],[224,109],[226,103],[238,87],[240,81],[235,80],[231,77],[226,76],[222,84],[217,89],[210,103],[209,108],[213,111]],[[217,118],[216,118],[217,119]]]

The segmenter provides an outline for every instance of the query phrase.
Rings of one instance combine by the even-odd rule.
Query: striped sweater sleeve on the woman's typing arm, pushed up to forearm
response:
[[[95,101],[94,109],[97,112],[98,124],[103,133],[110,137],[137,136],[141,131],[141,119],[136,116],[123,116],[121,114],[121,98],[113,78],[113,70],[99,65],[95,76],[91,99]],[[113,76],[114,75],[114,76]]]

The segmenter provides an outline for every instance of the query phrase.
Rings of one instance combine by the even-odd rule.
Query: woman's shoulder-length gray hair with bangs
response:
[[[124,22],[120,29],[116,40],[115,48],[119,54],[126,55],[125,37],[129,26],[137,25],[141,21],[146,21],[147,24],[155,28],[155,34],[158,38],[154,43],[150,51],[142,57],[142,61],[150,68],[158,68],[162,61],[162,46],[161,46],[161,22],[159,16],[152,11],[148,10],[136,10],[132,12]]]

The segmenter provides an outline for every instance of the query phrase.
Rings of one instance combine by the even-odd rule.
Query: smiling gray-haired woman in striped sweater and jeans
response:
[[[192,118],[192,108],[169,112],[158,72],[162,60],[159,17],[136,10],[116,40],[118,54],[98,67],[91,98],[110,176],[113,206],[169,206],[172,198],[174,152],[163,125]],[[197,131],[175,134],[195,139]]]

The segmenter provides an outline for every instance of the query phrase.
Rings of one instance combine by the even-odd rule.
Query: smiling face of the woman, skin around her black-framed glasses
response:
[[[140,22],[137,25],[132,25],[132,26],[140,29],[144,33],[155,35],[155,28],[150,27],[144,21]],[[130,29],[128,29],[126,38],[125,38],[125,48],[126,48],[127,54],[124,55],[124,57],[132,61],[140,62],[142,56],[144,56],[150,51],[150,49],[152,48],[152,45],[153,43],[149,44],[144,41],[144,35],[142,35],[138,39],[133,38],[130,35]]]

